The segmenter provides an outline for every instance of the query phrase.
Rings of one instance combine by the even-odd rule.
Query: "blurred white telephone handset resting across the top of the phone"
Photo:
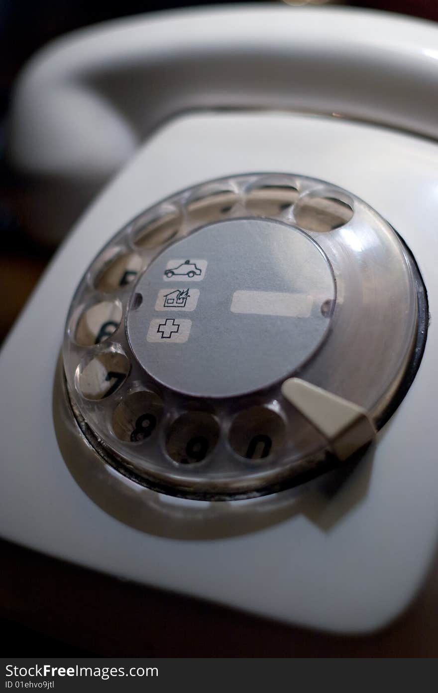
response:
[[[12,100],[10,159],[39,186],[32,227],[59,241],[176,114],[292,110],[435,138],[437,55],[426,22],[339,8],[186,10],[63,37],[30,61]]]

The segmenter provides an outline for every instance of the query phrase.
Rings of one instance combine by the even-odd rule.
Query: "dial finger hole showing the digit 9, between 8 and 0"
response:
[[[167,455],[180,464],[203,462],[219,440],[219,423],[207,412],[187,412],[170,426]]]

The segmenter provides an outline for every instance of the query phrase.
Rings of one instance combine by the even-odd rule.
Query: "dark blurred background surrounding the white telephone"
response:
[[[207,4],[234,3],[221,3],[220,0],[210,3],[158,0],[88,0],[86,3],[71,0],[0,0],[0,344],[53,254],[52,248],[39,247],[35,241],[30,240],[30,229],[21,220],[21,213],[26,205],[26,185],[6,161],[8,103],[19,70],[40,46],[71,30],[143,12]],[[317,4],[317,0],[313,0],[313,3],[290,0],[289,4]],[[437,0],[345,1],[330,4],[383,9],[438,20]],[[179,656],[179,652],[186,656],[188,653],[193,656],[232,656],[230,648],[233,643],[236,653],[246,656],[264,656],[264,653],[268,656],[437,655],[437,647],[432,644],[437,640],[437,629],[433,626],[436,619],[434,621],[431,613],[432,606],[435,606],[436,613],[437,567],[428,581],[429,587],[414,610],[402,617],[401,622],[390,631],[377,635],[372,640],[360,638],[346,641],[274,626],[210,605],[193,604],[188,600],[175,602],[176,597],[147,595],[141,588],[129,588],[113,579],[79,568],[69,568],[58,561],[26,552],[6,542],[0,542],[0,551],[2,563],[5,561],[3,565],[8,564],[8,568],[2,570],[3,577],[0,578],[0,619],[3,618],[0,620],[0,629],[5,636],[5,656],[86,656],[93,653],[136,656],[166,656],[169,653],[172,656],[173,653],[173,656]],[[128,597],[125,594],[127,590]],[[99,593],[102,591],[102,597],[108,599],[109,604],[101,602],[99,607]],[[117,644],[108,640],[112,624],[108,622],[106,628],[105,617],[111,613],[111,608],[116,608],[116,618],[127,629],[131,624],[135,631],[140,627],[141,619],[140,622],[136,618],[130,620],[126,610],[133,610],[134,613],[138,609],[143,611],[144,608],[147,611],[151,604],[154,604],[156,617],[154,626],[151,622],[147,628],[145,640],[141,636],[140,639],[133,639],[132,633],[126,633],[126,651],[120,649],[120,642]],[[180,610],[181,618],[189,623],[192,616],[197,616],[192,631],[190,628],[186,631],[187,625],[185,626],[181,640],[181,633],[179,635],[173,632],[167,636],[165,621],[172,621],[171,616],[175,610]],[[78,614],[82,611],[84,613],[81,619]],[[92,619],[98,626],[94,626],[91,633],[86,633],[87,623]],[[215,620],[215,627],[219,629],[219,633],[222,632],[223,638],[215,638],[215,647],[210,646],[208,649],[204,629],[208,630],[210,620]],[[181,626],[181,619],[174,620],[174,625],[177,628]],[[158,643],[155,646],[154,628]],[[140,635],[138,631],[137,634]],[[206,649],[203,651],[204,645]]]

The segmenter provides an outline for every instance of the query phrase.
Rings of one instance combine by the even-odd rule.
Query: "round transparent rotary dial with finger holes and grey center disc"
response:
[[[71,408],[138,484],[269,493],[383,426],[427,320],[417,265],[366,202],[300,175],[219,179],[147,209],[91,262],[66,320]],[[321,420],[345,401],[354,440]]]

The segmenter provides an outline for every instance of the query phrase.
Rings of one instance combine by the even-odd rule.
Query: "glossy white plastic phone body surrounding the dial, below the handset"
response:
[[[255,170],[327,179],[366,200],[412,249],[430,313],[437,313],[435,143],[287,114],[193,114],[170,123],[77,223],[3,347],[1,534],[81,565],[278,620],[370,631],[409,604],[437,541],[433,320],[417,377],[376,446],[342,483],[328,475],[280,494],[280,511],[264,524],[257,520],[257,500],[221,505],[222,518],[229,513],[228,534],[172,538],[158,536],[153,526],[140,532],[85,495],[55,439],[55,365],[69,302],[90,258],[129,218],[166,195]],[[190,509],[184,502],[153,498],[183,523]],[[207,504],[197,508],[206,518],[215,512]],[[237,534],[242,516],[246,525]]]

